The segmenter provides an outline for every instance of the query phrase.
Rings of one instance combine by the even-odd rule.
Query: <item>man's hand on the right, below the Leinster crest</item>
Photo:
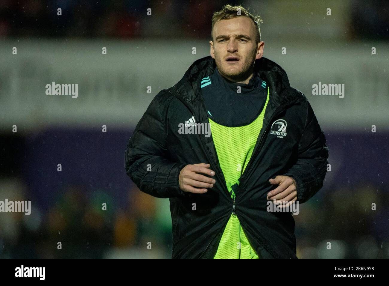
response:
[[[269,182],[270,184],[279,184],[279,186],[268,192],[266,199],[270,199],[271,201],[275,199],[276,203],[278,201],[288,201],[287,205],[291,205],[293,201],[297,200],[297,185],[293,178],[279,175],[274,179],[271,178]]]

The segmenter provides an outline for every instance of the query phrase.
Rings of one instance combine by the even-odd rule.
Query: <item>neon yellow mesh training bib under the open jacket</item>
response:
[[[252,151],[262,129],[263,117],[269,101],[269,88],[265,105],[259,116],[250,124],[240,127],[228,127],[217,124],[210,118],[209,124],[212,139],[215,144],[220,167],[226,180],[227,189],[231,198],[235,199],[232,186],[239,184],[242,174],[251,158]],[[242,166],[244,165],[244,166]],[[214,259],[258,259],[258,255],[249,244],[247,237],[240,226],[238,217],[231,212],[223,235],[217,247]]]

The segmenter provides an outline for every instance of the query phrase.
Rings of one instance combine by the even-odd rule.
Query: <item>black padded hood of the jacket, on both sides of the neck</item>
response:
[[[213,74],[216,62],[212,56],[205,56],[193,62],[184,76],[172,88],[172,92],[187,103],[193,102],[200,94],[202,78]],[[254,72],[265,80],[272,93],[272,105],[279,106],[296,99],[296,92],[291,88],[286,72],[280,65],[268,58],[255,60]]]

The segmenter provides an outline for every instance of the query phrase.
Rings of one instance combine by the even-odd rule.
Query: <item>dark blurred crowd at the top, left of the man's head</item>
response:
[[[123,38],[167,37],[175,32],[189,37],[206,36],[203,31],[210,31],[212,12],[223,4],[219,0],[1,2],[0,36]]]

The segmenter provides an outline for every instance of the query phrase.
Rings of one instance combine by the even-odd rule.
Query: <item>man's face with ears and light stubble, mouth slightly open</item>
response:
[[[265,44],[255,43],[255,29],[256,25],[246,16],[215,23],[210,55],[220,74],[232,81],[244,81],[252,73],[254,61],[262,57]]]

